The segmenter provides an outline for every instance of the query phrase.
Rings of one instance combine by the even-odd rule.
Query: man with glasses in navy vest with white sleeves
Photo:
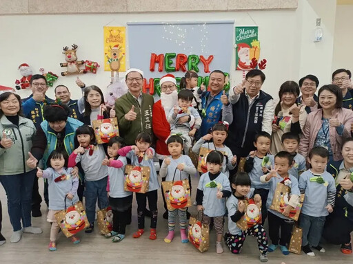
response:
[[[260,131],[272,133],[274,104],[269,94],[261,91],[265,74],[252,69],[240,85],[230,89],[233,122],[229,127],[226,145],[236,155],[238,164],[241,157],[247,157],[254,151],[254,137]],[[232,173],[236,173],[235,168]]]

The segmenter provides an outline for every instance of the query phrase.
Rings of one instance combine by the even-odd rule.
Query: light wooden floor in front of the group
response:
[[[193,179],[192,186],[197,186],[197,179]],[[43,190],[43,183],[40,181]],[[42,193],[42,192],[41,192]],[[195,192],[194,192],[195,194]],[[23,234],[19,243],[10,243],[12,227],[7,213],[6,195],[2,186],[0,187],[0,199],[3,205],[3,231],[7,242],[0,246],[0,263],[229,263],[229,264],[251,264],[260,263],[259,251],[256,239],[248,237],[245,241],[243,251],[240,255],[231,254],[228,248],[223,248],[223,254],[216,254],[215,234],[211,232],[210,250],[198,252],[190,243],[182,244],[179,232],[176,232],[174,241],[166,244],[163,239],[168,232],[167,220],[163,219],[163,201],[159,192],[159,219],[157,224],[157,240],[148,239],[149,228],[139,239],[133,239],[132,233],[137,230],[136,201],[134,201],[132,223],[126,230],[126,237],[120,243],[112,243],[111,239],[105,239],[98,232],[98,228],[92,234],[79,234],[81,243],[72,245],[65,239],[63,234],[59,235],[57,251],[49,252],[48,242],[50,235],[50,224],[46,221],[48,212],[46,204],[42,204],[43,216],[32,218],[32,225],[43,228],[43,234]],[[196,212],[196,206],[190,208],[191,213]],[[149,226],[150,219],[146,219]],[[227,224],[225,223],[225,226]],[[225,228],[226,230],[227,228]],[[353,255],[341,254],[339,246],[325,245],[325,253],[317,253],[310,257],[305,254],[290,254],[283,256],[280,250],[268,254],[268,263],[285,262],[291,263],[353,263]]]

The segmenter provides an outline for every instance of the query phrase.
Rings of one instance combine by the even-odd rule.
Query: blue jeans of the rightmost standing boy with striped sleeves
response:
[[[301,245],[310,244],[312,247],[319,245],[325,219],[326,217],[310,217],[310,215],[301,214],[299,217],[299,225],[303,228]]]

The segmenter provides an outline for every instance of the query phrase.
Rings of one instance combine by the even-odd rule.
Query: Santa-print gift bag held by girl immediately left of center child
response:
[[[150,183],[150,167],[147,166],[125,166],[124,190],[128,192],[148,192]]]

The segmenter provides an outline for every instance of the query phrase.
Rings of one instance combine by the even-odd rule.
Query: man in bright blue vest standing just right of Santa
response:
[[[225,97],[223,88],[225,85],[225,74],[219,69],[214,70],[210,74],[210,91],[204,91],[201,94],[202,105],[202,123],[200,127],[200,135],[203,137],[214,124],[219,121],[232,122],[232,105],[228,100],[221,100]]]

